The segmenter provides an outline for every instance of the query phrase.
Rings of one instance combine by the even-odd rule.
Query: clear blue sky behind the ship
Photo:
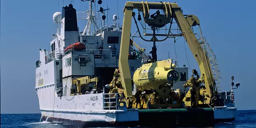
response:
[[[118,14],[122,23],[125,0],[119,0],[118,7],[116,0],[107,0],[107,4],[106,0],[102,1],[105,8],[107,5],[110,8],[109,18],[112,18],[113,14]],[[88,9],[86,2],[80,0],[71,2],[77,11]],[[176,0],[176,2],[183,9],[183,14],[194,14],[199,18],[203,35],[217,57],[223,79],[220,82],[221,89],[229,91],[230,79],[234,76],[234,82],[240,83],[239,89],[235,90],[237,109],[256,109],[254,99],[256,85],[252,81],[256,78],[256,68],[253,68],[256,63],[254,40],[256,1]],[[70,0],[64,0],[64,6],[69,3]],[[56,28],[52,15],[61,11],[62,5],[63,0],[1,0],[1,113],[40,113],[35,90],[35,64],[39,59],[40,48],[50,50],[50,41]],[[85,21],[78,21],[78,26],[82,31]],[[132,32],[135,32],[135,29],[133,25]],[[145,47],[147,52],[150,51],[152,43],[145,43],[140,39],[135,41],[141,47]],[[180,66],[189,64],[191,69],[199,71],[199,66],[183,37],[176,41],[175,49],[173,39],[156,45],[158,59],[168,59],[170,52],[172,59],[177,55]]]

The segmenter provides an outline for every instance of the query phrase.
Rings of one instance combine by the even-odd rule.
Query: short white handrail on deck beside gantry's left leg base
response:
[[[114,94],[114,97],[110,97],[110,95],[113,95],[113,94]],[[121,94],[121,93],[103,93],[103,104],[104,104],[103,109],[109,108],[109,110],[110,110],[110,108],[116,108],[116,110],[117,110],[118,100],[121,99],[121,97],[119,97],[119,94]],[[105,98],[106,95],[108,95],[107,98]],[[115,95],[116,95],[116,97],[115,97]],[[113,101],[110,101],[110,99],[116,99],[116,100],[115,100],[115,102],[113,102]],[[107,102],[105,102],[105,100],[107,100]],[[112,103],[116,103],[115,106],[112,106]],[[105,105],[105,104],[107,104],[107,105]]]

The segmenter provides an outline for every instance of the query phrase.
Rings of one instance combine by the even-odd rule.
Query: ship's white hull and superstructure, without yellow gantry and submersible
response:
[[[40,60],[36,62],[36,92],[41,114],[45,118],[50,116],[66,123],[97,121],[111,124],[138,121],[137,109],[113,110],[106,107],[110,100],[103,86],[112,81],[113,76],[109,74],[114,73],[118,66],[122,27],[117,22],[117,15],[113,16],[112,25],[104,24],[104,11],[108,9],[102,10],[102,24],[98,26],[95,20],[100,12],[95,12],[92,6],[94,3],[89,2],[90,8],[86,12],[76,12],[70,4],[63,7],[62,12],[53,14],[57,32],[50,42],[51,50],[40,49]],[[88,20],[83,31],[78,30],[77,19]],[[94,28],[92,31],[91,27]],[[68,48],[75,43],[82,43],[86,48]],[[103,50],[99,49],[100,45]],[[113,50],[114,45],[116,50]],[[147,57],[146,54],[143,55]],[[143,57],[129,56],[131,76],[142,65],[142,59]],[[177,67],[176,71],[183,73],[184,77],[173,85],[173,89],[183,88],[182,85],[189,79],[188,68]],[[98,77],[100,89],[91,94],[72,95],[72,79],[83,76]],[[133,95],[135,91],[136,87],[133,88]]]

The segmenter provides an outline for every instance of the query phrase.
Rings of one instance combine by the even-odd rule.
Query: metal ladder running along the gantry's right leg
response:
[[[217,64],[216,55],[214,55],[213,50],[211,49],[209,43],[207,43],[207,41],[206,41],[206,38],[201,37],[198,39],[198,41],[199,41],[201,47],[203,48],[204,53],[206,54],[206,56],[208,57],[208,59],[210,61],[216,91],[219,94],[221,94],[220,81],[222,80],[222,78],[220,77],[220,71],[219,71],[219,66]]]

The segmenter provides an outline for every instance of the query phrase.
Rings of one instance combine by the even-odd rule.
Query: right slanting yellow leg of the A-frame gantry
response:
[[[199,25],[199,19],[194,15],[188,15],[186,18],[182,14],[180,7],[172,7],[175,21],[177,22],[182,34],[190,47],[192,54],[194,55],[200,71],[201,76],[204,75],[204,81],[202,81],[205,85],[206,92],[211,97],[214,95],[215,90],[215,81],[213,77],[213,73],[211,70],[211,65],[209,62],[209,58],[206,56],[203,48],[201,47],[199,41],[194,35],[191,27]]]

